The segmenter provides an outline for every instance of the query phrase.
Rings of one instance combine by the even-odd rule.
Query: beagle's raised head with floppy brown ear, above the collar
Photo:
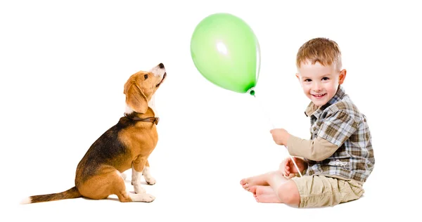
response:
[[[148,102],[162,84],[167,73],[162,63],[149,71],[139,71],[132,74],[124,84],[124,95],[126,104],[132,110],[139,113],[146,113]]]

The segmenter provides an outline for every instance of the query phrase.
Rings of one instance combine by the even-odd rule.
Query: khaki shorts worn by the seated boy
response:
[[[328,207],[357,200],[364,194],[363,182],[328,176],[295,176],[300,194],[300,208]]]

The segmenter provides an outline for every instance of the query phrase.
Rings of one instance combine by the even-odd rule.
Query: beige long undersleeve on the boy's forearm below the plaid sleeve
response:
[[[321,161],[333,155],[338,146],[319,137],[309,141],[290,135],[287,148],[290,155]]]

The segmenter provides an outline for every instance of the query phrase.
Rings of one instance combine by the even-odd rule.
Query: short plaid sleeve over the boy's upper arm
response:
[[[354,117],[348,112],[338,110],[324,119],[317,136],[340,147],[356,130],[357,122]]]

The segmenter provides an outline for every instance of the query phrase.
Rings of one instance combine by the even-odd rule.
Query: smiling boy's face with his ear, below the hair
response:
[[[312,102],[321,107],[335,95],[339,84],[343,84],[346,70],[336,71],[334,65],[324,66],[321,63],[302,63],[298,77],[303,92]]]

